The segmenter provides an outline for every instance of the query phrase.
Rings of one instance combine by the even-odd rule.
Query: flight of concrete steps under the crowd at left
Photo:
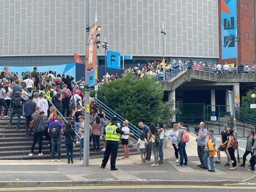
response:
[[[70,118],[67,118],[68,122],[71,122]],[[30,138],[26,138],[26,129],[25,129],[25,119],[21,119],[20,129],[16,130],[17,118],[13,118],[12,125],[8,125],[9,120],[6,118],[1,118],[0,120],[0,159],[50,159],[50,149],[49,149],[49,141],[43,140],[43,148],[42,153],[44,156],[38,156],[38,144],[36,144],[34,155],[28,156],[31,151],[31,145],[33,143],[33,136]],[[74,127],[74,126],[73,126]],[[64,125],[65,129],[65,125]],[[61,138],[61,158],[66,157],[66,149],[65,149],[65,138],[64,136]],[[129,140],[129,150],[130,154],[138,153],[137,149],[134,148],[134,143],[136,141]],[[102,140],[100,140],[100,149],[103,148]],[[90,146],[90,158],[103,157],[104,152],[93,152],[93,147]],[[124,150],[122,149],[122,145],[120,143],[118,149],[118,155],[121,156],[124,154]],[[74,148],[74,157],[79,157],[79,146]]]

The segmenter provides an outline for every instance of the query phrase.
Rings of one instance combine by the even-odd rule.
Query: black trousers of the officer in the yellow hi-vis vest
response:
[[[102,160],[102,167],[105,167],[108,163],[109,156],[111,154],[110,159],[110,168],[116,168],[116,157],[117,157],[117,150],[118,150],[118,141],[107,141],[106,142],[106,151],[104,153],[104,159]]]

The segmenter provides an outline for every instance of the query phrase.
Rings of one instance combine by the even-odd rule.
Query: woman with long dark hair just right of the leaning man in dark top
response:
[[[156,129],[156,125],[155,124],[150,124],[149,126],[149,134],[148,134],[148,140],[151,139],[151,147],[153,150],[153,154],[154,154],[154,159],[155,159],[155,163],[151,164],[151,166],[158,166],[158,147],[159,147],[159,143],[160,143],[160,138],[159,138],[159,134],[157,132]]]

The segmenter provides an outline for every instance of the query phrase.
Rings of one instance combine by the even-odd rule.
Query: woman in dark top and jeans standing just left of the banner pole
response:
[[[64,131],[64,136],[65,136],[65,147],[66,147],[66,152],[67,152],[67,159],[68,163],[73,164],[73,142],[74,142],[74,137],[76,136],[75,131],[72,129],[70,124],[66,125],[66,129]]]

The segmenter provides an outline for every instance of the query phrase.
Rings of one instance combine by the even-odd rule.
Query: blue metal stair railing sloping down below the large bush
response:
[[[122,127],[122,124],[125,121],[124,117],[122,117],[121,115],[119,115],[118,113],[113,111],[111,108],[106,106],[106,104],[104,104],[104,102],[101,102],[99,99],[95,99],[95,101],[98,105],[102,106],[102,109],[107,118],[111,119],[112,116],[117,116],[118,122],[121,124],[121,127]],[[142,131],[138,127],[136,127],[135,125],[133,125],[131,123],[129,123],[129,129],[134,134],[134,138],[136,138],[136,140],[138,140],[140,138],[140,134]]]

